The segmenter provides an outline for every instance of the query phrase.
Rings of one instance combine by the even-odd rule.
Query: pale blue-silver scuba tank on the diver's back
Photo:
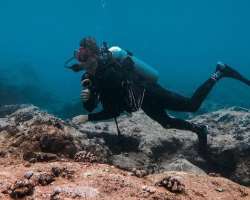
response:
[[[147,63],[143,62],[135,56],[129,55],[127,51],[118,46],[110,47],[109,51],[112,53],[112,57],[118,60],[123,60],[129,56],[133,60],[135,70],[138,74],[151,82],[158,81],[159,73]]]

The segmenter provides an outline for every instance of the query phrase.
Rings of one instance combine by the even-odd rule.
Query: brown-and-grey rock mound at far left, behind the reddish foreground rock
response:
[[[103,152],[103,160],[107,157],[105,146],[88,139],[71,124],[35,106],[7,107],[11,110],[5,110],[5,115],[0,118],[0,151],[11,149],[12,154],[38,162],[58,157],[74,158],[77,152],[85,149],[99,154]]]

